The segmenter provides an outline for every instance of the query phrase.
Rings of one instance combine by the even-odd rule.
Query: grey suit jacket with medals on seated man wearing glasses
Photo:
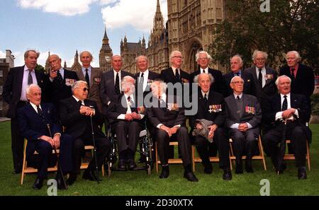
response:
[[[254,95],[242,94],[243,107],[238,110],[234,95],[225,98],[226,107],[226,127],[230,127],[235,123],[247,122],[252,128],[258,127],[262,120],[262,110],[259,102]]]

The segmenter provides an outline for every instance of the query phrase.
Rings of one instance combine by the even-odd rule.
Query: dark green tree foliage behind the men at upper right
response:
[[[225,21],[213,31],[209,48],[214,62],[228,65],[231,56],[240,54],[250,66],[252,52],[259,49],[269,54],[268,64],[276,68],[286,64],[285,52],[296,50],[304,63],[318,70],[318,0],[269,2],[270,11],[261,12],[262,1],[225,1]]]

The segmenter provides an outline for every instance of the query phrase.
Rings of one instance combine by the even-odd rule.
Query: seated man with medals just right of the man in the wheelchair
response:
[[[147,116],[154,127],[153,136],[156,136],[159,160],[162,173],[159,178],[169,177],[169,140],[176,136],[184,165],[184,177],[191,182],[198,179],[191,171],[191,142],[185,127],[184,108],[177,104],[177,97],[166,95],[167,85],[164,81],[155,80],[151,84],[152,103],[147,107]]]

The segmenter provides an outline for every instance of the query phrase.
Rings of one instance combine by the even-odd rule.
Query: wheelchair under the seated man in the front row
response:
[[[111,126],[108,126],[108,139],[111,142],[111,151],[106,158],[107,163],[107,173],[108,177],[111,177],[112,171],[118,171],[116,167],[113,165],[116,164],[118,160],[118,148],[116,142],[116,134],[113,134],[111,131]],[[144,165],[138,166],[134,170],[146,170],[147,175],[151,175],[151,171],[153,168],[153,160],[152,160],[152,153],[153,153],[153,144],[152,139],[150,136],[150,132],[147,130],[146,120],[145,120],[145,129],[140,132],[140,136],[138,139],[138,144],[141,144],[142,147],[140,149],[136,149],[136,153],[140,153],[142,156],[146,157],[146,161]]]

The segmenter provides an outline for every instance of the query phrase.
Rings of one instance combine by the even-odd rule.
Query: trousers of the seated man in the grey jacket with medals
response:
[[[230,129],[229,136],[233,140],[234,155],[236,160],[241,160],[246,153],[247,157],[252,158],[257,148],[259,128],[248,129],[240,132],[238,129]]]

